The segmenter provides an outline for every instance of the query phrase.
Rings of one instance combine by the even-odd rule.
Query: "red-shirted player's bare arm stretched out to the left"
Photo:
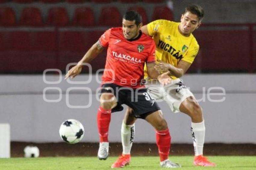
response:
[[[65,80],[69,77],[74,78],[82,71],[83,63],[88,63],[92,61],[98,54],[100,54],[104,50],[97,41],[92,47],[87,51],[87,53],[83,56],[83,58],[74,66],[72,67],[66,74]]]

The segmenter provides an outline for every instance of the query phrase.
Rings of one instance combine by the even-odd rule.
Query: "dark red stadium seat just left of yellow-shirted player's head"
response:
[[[173,12],[167,7],[155,7],[152,20],[154,21],[158,19],[173,21]]]

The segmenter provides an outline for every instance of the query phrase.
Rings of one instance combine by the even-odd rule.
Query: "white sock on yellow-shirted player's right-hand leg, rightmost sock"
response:
[[[204,120],[200,123],[191,123],[191,135],[194,142],[195,156],[203,154],[205,126]]]

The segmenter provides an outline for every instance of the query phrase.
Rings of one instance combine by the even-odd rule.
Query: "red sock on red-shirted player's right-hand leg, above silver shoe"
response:
[[[168,159],[171,146],[171,136],[168,128],[161,131],[156,130],[156,144],[158,146],[160,161],[162,162]]]

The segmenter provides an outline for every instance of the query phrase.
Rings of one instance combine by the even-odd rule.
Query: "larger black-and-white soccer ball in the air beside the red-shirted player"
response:
[[[75,144],[83,138],[84,128],[78,120],[69,119],[61,124],[59,133],[65,142]]]

